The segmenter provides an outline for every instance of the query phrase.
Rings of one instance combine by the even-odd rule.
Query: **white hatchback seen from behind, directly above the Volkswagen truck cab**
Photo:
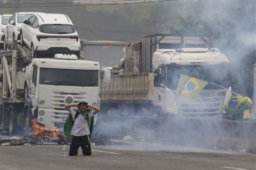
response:
[[[75,26],[64,14],[32,15],[21,26],[21,44],[31,49],[31,55],[57,53],[80,54],[80,40]]]

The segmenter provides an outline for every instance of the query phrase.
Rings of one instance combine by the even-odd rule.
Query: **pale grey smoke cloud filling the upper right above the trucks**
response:
[[[235,91],[252,96],[253,63],[256,62],[256,2],[245,1],[182,1],[159,4],[158,15],[164,33],[206,35],[212,47],[218,47],[230,60]],[[217,75],[219,76],[219,75]],[[241,90],[242,89],[242,90]]]

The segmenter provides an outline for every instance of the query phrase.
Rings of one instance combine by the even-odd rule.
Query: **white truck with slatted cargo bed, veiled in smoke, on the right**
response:
[[[108,114],[218,117],[231,96],[226,55],[208,48],[207,37],[155,34],[125,47],[119,75],[102,68],[101,108]],[[177,100],[180,74],[211,81],[196,103]]]

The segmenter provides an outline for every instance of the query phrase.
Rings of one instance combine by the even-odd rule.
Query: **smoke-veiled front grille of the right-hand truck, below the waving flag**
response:
[[[179,114],[184,116],[203,116],[223,114],[226,90],[203,90],[195,103],[178,102]]]

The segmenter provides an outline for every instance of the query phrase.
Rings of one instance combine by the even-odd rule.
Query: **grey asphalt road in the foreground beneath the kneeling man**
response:
[[[62,145],[0,146],[0,169],[256,169],[256,154],[243,151],[113,141],[75,157],[63,157]]]

